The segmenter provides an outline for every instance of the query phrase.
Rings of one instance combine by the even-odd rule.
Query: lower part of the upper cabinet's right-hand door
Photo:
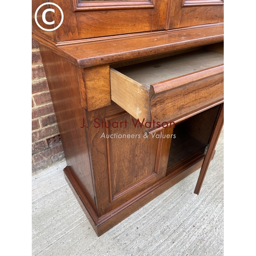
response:
[[[223,22],[223,2],[207,0],[171,1],[169,29]]]

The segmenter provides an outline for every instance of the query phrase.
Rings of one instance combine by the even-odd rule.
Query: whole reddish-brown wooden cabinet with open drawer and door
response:
[[[65,174],[98,236],[201,167],[199,194],[223,125],[223,24],[170,17],[223,8],[202,2],[56,0],[57,30],[33,19]]]

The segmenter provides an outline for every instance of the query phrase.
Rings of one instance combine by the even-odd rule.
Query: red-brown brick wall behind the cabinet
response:
[[[32,39],[32,172],[64,158],[40,52]]]

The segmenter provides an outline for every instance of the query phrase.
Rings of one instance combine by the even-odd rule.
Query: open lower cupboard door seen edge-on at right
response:
[[[212,137],[210,139],[209,148],[208,148],[208,151],[206,153],[206,156],[205,156],[205,159],[204,159],[204,162],[203,162],[200,174],[199,174],[197,185],[196,185],[196,188],[195,188],[195,191],[194,191],[194,193],[197,194],[197,195],[199,195],[199,193],[200,193],[200,189],[202,187],[204,177],[206,175],[208,166],[210,164],[210,160],[212,159],[212,157],[214,155],[215,147],[216,147],[218,138],[220,136],[223,123],[224,123],[224,104],[221,105],[219,116],[217,118],[217,121],[216,121],[216,124],[215,124],[215,127],[214,127],[214,132],[213,132]]]

